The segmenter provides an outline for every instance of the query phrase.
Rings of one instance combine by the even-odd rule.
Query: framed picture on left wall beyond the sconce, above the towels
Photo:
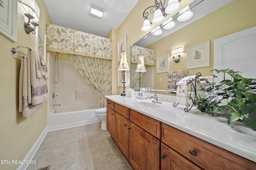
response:
[[[46,57],[46,33],[40,25],[36,27],[36,51]]]

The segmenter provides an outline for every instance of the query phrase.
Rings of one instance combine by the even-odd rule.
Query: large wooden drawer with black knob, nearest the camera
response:
[[[162,123],[162,142],[204,169],[256,169],[256,163]],[[196,151],[196,156],[190,154]]]

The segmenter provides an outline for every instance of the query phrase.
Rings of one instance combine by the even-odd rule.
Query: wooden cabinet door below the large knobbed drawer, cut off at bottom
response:
[[[201,170],[199,166],[181,156],[178,152],[161,143],[162,170]]]

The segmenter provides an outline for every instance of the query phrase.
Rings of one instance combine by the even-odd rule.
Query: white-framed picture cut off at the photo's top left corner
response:
[[[0,33],[17,42],[18,0],[0,0]]]

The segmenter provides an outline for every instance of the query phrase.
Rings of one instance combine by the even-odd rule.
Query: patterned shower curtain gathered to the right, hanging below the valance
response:
[[[106,95],[111,95],[111,60],[68,54],[75,70],[92,88],[101,93],[100,108],[106,107]]]

